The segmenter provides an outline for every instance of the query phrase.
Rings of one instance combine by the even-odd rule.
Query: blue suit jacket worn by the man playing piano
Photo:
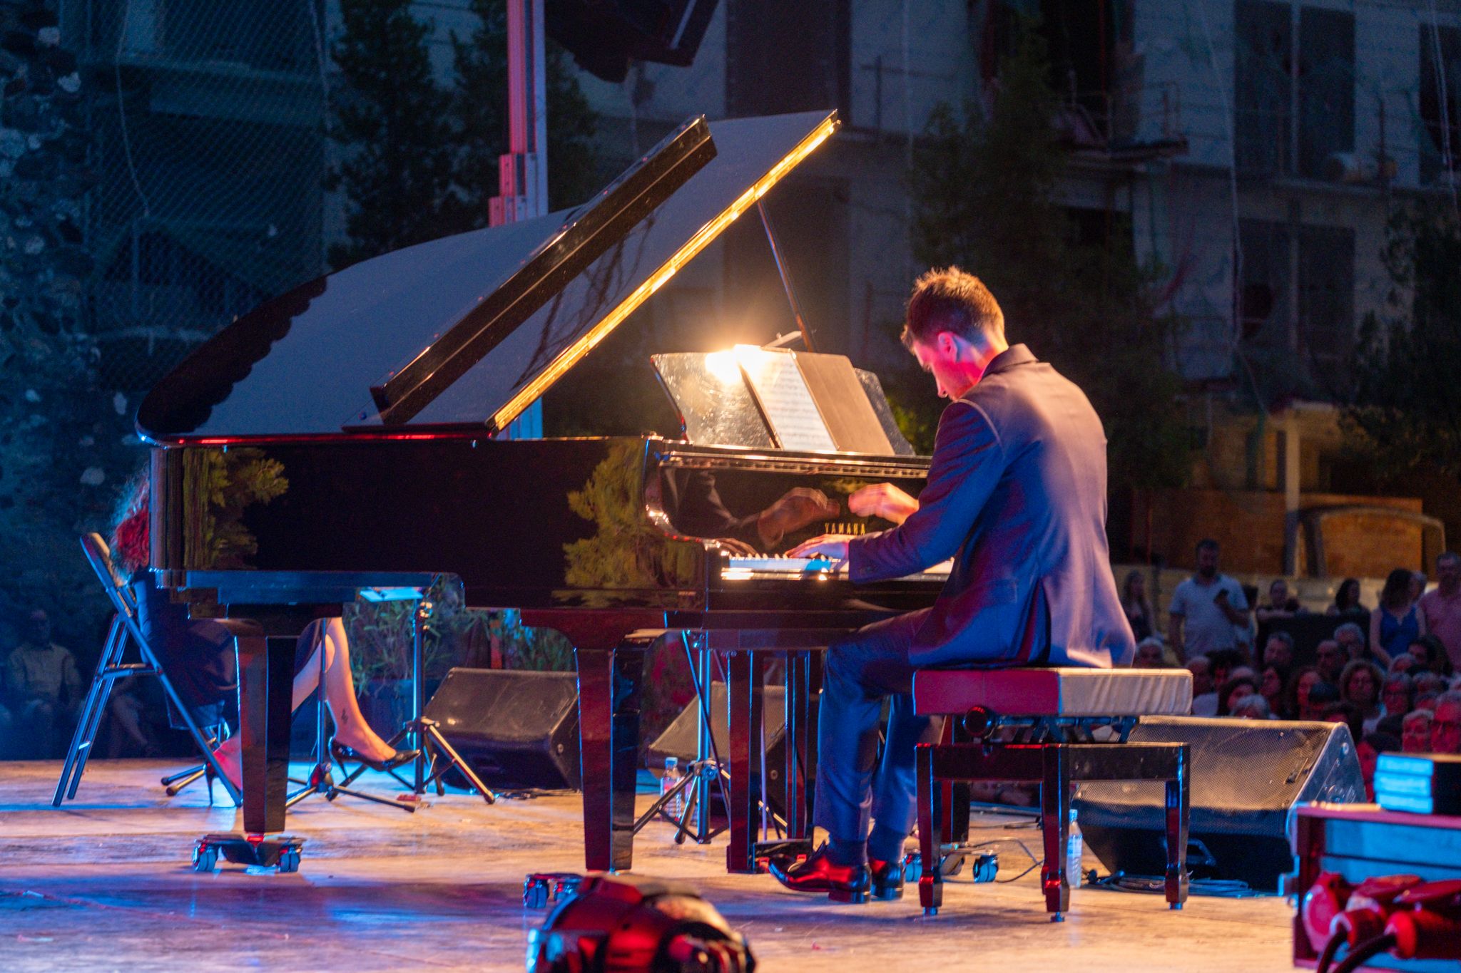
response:
[[[847,553],[853,581],[948,557],[915,665],[1131,662],[1106,544],[1106,432],[1086,394],[1023,344],[944,410],[919,511]]]

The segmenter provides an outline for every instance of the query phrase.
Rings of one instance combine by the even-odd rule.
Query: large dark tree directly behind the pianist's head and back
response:
[[[1164,365],[1176,321],[1151,299],[1154,268],[1129,247],[1124,219],[1100,244],[1083,244],[1056,197],[1068,155],[1045,42],[1029,25],[999,64],[988,111],[934,111],[912,174],[913,252],[928,265],[977,274],[1026,341],[1075,381],[1110,442],[1110,487],[1176,486],[1188,448]],[[1124,239],[1125,238],[1125,239]],[[1119,492],[1119,493],[1118,493]]]

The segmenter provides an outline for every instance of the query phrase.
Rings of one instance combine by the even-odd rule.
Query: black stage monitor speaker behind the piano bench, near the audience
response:
[[[1132,743],[1185,743],[1192,786],[1188,868],[1197,878],[1277,891],[1293,871],[1289,814],[1311,801],[1365,801],[1354,741],[1344,724],[1148,716]],[[1166,871],[1160,782],[1102,780],[1075,798],[1086,845],[1112,872]]]

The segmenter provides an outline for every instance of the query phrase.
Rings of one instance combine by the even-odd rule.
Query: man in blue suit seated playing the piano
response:
[[[815,824],[828,840],[801,864],[773,862],[787,888],[865,902],[903,893],[915,747],[941,721],[913,713],[925,667],[1131,662],[1135,639],[1106,544],[1106,435],[1086,395],[1024,344],[1010,346],[993,295],[957,267],[923,274],[903,343],[941,397],[928,484],[918,499],[863,487],[849,506],[893,530],[825,534],[793,556],[846,562],[855,582],[954,559],[932,607],[861,629],[827,651]],[[878,721],[891,699],[882,760]]]

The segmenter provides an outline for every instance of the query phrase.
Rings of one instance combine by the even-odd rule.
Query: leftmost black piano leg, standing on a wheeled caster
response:
[[[295,642],[294,636],[235,633],[244,831],[248,834],[283,830]]]

